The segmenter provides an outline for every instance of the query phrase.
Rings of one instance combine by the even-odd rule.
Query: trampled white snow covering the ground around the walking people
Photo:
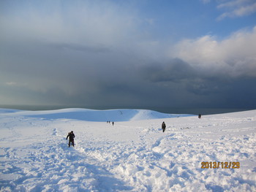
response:
[[[1,191],[256,191],[256,110],[152,120],[139,119],[163,116],[94,111],[92,121],[78,109],[0,112]],[[201,169],[203,161],[240,168]]]

